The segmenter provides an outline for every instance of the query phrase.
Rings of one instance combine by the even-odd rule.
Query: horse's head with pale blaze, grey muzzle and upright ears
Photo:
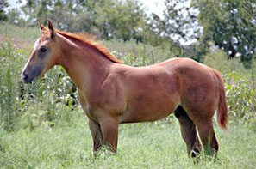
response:
[[[48,20],[48,27],[44,27],[39,21],[41,37],[34,44],[28,63],[22,70],[22,81],[29,83],[40,78],[48,69],[58,64],[59,47],[58,37],[51,21]]]

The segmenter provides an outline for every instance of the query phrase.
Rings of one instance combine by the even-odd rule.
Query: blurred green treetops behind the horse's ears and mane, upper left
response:
[[[146,15],[139,0],[59,1],[27,0],[21,9],[9,9],[10,24],[22,27],[37,26],[37,20],[67,32],[87,32],[98,39],[136,39],[150,45],[174,44],[162,37],[153,18]]]

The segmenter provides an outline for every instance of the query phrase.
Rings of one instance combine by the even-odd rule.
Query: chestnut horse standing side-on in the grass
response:
[[[40,78],[61,65],[78,87],[78,96],[93,138],[94,152],[104,145],[116,153],[118,125],[152,122],[174,112],[189,155],[204,148],[218,151],[212,118],[227,128],[222,76],[189,58],[134,68],[122,64],[93,37],[64,33],[41,22],[41,37],[22,70],[22,81]]]

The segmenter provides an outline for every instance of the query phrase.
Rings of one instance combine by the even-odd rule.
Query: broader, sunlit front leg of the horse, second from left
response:
[[[116,153],[118,140],[119,118],[105,117],[100,122],[103,132],[103,143],[108,146],[110,151]]]

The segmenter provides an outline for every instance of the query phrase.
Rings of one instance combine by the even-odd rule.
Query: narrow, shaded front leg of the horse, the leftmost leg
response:
[[[93,139],[93,151],[94,154],[97,154],[97,150],[103,146],[103,132],[100,124],[91,119],[89,119],[89,127]]]

